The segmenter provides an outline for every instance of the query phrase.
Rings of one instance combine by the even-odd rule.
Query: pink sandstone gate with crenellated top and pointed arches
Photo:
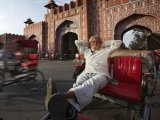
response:
[[[122,39],[136,26],[160,34],[160,0],[74,0],[63,6],[49,0],[46,8],[43,46],[47,52],[62,53],[62,38],[67,32],[86,41],[94,34],[103,40]],[[30,27],[26,32],[30,33]]]

